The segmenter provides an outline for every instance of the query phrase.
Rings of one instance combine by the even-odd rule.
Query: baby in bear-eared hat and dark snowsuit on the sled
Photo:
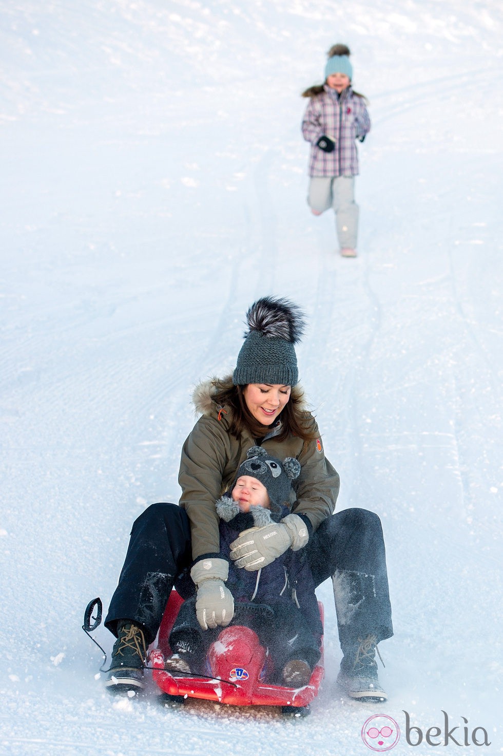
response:
[[[221,558],[229,559],[230,544],[242,531],[285,522],[292,480],[300,469],[294,457],[281,463],[262,447],[248,450],[232,488],[215,505],[220,517]],[[195,568],[202,572],[205,561],[197,562]],[[227,588],[236,606],[230,624],[244,624],[257,633],[273,659],[276,681],[296,688],[307,685],[319,660],[322,626],[304,550],[287,549],[258,571],[239,569],[239,560],[230,562]],[[239,603],[266,605],[273,616],[249,606],[244,613],[239,612]],[[173,655],[166,659],[165,668],[173,672],[203,671],[208,648],[222,629],[211,625],[211,618],[198,611],[196,599],[186,600],[169,637]]]

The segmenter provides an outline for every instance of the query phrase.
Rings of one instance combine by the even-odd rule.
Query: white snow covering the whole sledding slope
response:
[[[491,745],[461,752],[501,752],[501,3],[1,10],[0,752],[360,756],[381,711],[423,733],[464,717]],[[299,93],[334,42],[373,124],[354,260],[305,203]],[[110,600],[134,518],[177,500],[191,388],[233,368],[268,293],[310,318],[301,381],[338,507],[383,522],[390,699],[341,696],[329,582],[310,717],[110,699],[85,606]]]

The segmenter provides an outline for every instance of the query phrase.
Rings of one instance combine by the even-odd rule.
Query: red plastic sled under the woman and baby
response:
[[[187,698],[206,699],[233,706],[280,706],[284,714],[304,716],[310,702],[316,698],[319,684],[325,676],[323,668],[323,640],[321,657],[307,685],[295,689],[267,682],[271,663],[258,636],[242,625],[225,627],[218,640],[212,643],[207,655],[208,677],[177,675],[164,668],[164,660],[171,655],[168,637],[183,599],[176,590],[166,606],[159,629],[159,646],[150,652],[153,679],[165,693],[165,699],[184,702]],[[323,623],[323,605],[318,602]],[[212,677],[211,677],[212,676]]]

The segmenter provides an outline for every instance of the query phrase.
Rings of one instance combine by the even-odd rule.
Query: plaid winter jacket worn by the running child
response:
[[[302,122],[304,139],[311,143],[310,176],[355,176],[359,172],[355,139],[370,131],[369,113],[362,97],[348,87],[338,95],[325,85],[325,91],[310,98]],[[333,152],[316,147],[321,136],[335,141]]]

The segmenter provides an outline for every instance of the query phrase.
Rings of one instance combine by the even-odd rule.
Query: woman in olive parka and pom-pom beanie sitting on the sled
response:
[[[254,445],[273,457],[295,457],[301,473],[290,514],[241,534],[231,544],[238,568],[258,570],[285,550],[306,549],[316,585],[334,584],[344,658],[338,682],[354,699],[386,698],[375,647],[391,637],[390,600],[381,523],[366,510],[333,515],[339,476],[326,459],[316,420],[298,387],[295,343],[304,330],[298,307],[264,297],[247,313],[248,333],[233,376],[202,383],[194,403],[202,417],[181,454],[180,506],[156,503],[134,522],[106,627],[116,635],[106,680],[110,692],[143,688],[147,645],[155,639],[169,593],[196,590],[201,627],[226,627],[233,596],[229,562],[219,551],[214,502]]]

